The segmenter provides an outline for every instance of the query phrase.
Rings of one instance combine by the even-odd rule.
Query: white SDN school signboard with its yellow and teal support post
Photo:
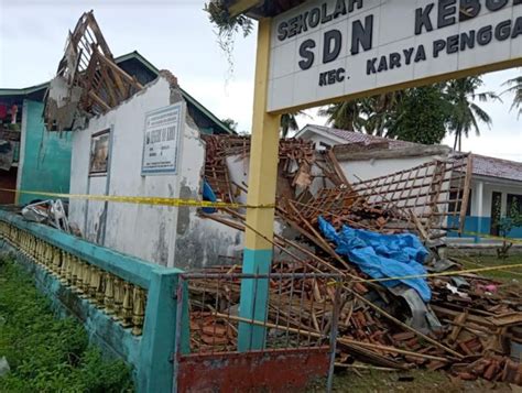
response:
[[[275,113],[522,65],[522,0],[466,7],[455,0],[227,2],[232,15],[252,10],[259,18],[243,254],[243,273],[250,275],[271,269],[281,120]],[[283,11],[257,7],[269,3]],[[265,321],[268,299],[267,279],[242,280],[242,318]],[[265,328],[240,323],[239,351],[262,349],[264,341]]]

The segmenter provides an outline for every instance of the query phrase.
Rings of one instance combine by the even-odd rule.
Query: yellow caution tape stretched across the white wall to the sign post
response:
[[[243,204],[230,204],[225,201],[209,201],[209,200],[196,200],[196,199],[181,199],[181,198],[163,198],[163,197],[140,197],[140,196],[117,196],[117,195],[89,195],[89,194],[62,194],[62,193],[46,193],[46,192],[29,192],[11,188],[0,188],[0,192],[8,193],[20,193],[29,195],[46,196],[51,198],[68,198],[68,199],[86,199],[86,200],[99,200],[99,201],[116,201],[123,204],[138,204],[138,205],[155,205],[155,206],[172,206],[172,207],[208,207],[208,208],[274,208],[275,205],[243,205]]]

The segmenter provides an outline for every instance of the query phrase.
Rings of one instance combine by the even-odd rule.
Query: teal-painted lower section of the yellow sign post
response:
[[[272,262],[272,250],[244,250],[243,270],[244,274],[269,274]],[[267,320],[269,302],[268,279],[242,279],[241,303],[239,316],[241,318],[264,323]],[[238,350],[263,349],[267,329],[262,326],[249,323],[239,323]]]

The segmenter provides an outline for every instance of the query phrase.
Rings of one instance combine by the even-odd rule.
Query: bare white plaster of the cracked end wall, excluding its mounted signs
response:
[[[160,77],[144,91],[94,118],[88,128],[75,132],[72,159],[72,194],[157,196],[200,199],[205,144],[188,117],[182,127],[177,174],[142,176],[145,113],[180,101]],[[89,177],[91,134],[111,129],[108,176]],[[218,255],[239,251],[241,234],[197,216],[196,208],[73,199],[70,221],[89,241],[113,248],[162,265],[193,268],[217,263]],[[104,236],[104,225],[106,226]]]

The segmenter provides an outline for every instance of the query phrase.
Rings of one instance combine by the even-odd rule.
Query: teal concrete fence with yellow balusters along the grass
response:
[[[132,364],[139,392],[171,392],[182,271],[96,245],[0,210],[0,249],[31,271],[63,315],[83,321],[91,342]],[[185,318],[183,318],[185,319]],[[176,325],[178,331],[176,335]],[[187,343],[181,343],[186,347]]]

